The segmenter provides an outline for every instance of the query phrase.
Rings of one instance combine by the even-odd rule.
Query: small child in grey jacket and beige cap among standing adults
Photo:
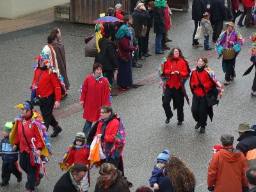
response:
[[[204,50],[210,51],[212,47],[209,46],[209,36],[212,34],[212,25],[210,21],[210,14],[205,12],[201,20],[202,27],[204,29]]]

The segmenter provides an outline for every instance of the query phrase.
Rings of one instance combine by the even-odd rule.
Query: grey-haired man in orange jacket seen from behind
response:
[[[243,154],[233,147],[234,136],[229,133],[221,135],[223,149],[212,156],[207,174],[208,190],[214,192],[248,189],[245,179],[247,169]]]

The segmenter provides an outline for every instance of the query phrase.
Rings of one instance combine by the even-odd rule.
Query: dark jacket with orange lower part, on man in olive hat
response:
[[[256,137],[253,136],[252,131],[244,132],[237,141],[239,143],[236,145],[236,148],[241,150],[246,157],[248,167],[256,166]]]

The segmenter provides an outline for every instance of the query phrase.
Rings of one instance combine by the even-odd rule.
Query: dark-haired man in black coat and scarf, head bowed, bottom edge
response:
[[[67,173],[64,173],[54,186],[53,192],[77,192],[82,190],[81,180],[88,172],[83,163],[77,163]],[[83,191],[83,190],[82,190]],[[87,191],[84,191],[87,192]]]

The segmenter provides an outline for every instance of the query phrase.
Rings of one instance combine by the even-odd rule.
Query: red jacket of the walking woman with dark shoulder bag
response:
[[[198,78],[200,79],[201,83],[204,84],[204,90],[206,93],[209,92],[209,90],[211,90],[213,83],[212,83],[211,77],[205,70],[203,70],[202,72],[198,72],[197,70],[192,72],[192,75],[190,77],[191,78],[190,79],[190,87],[198,97],[200,97],[200,96],[204,97],[205,93],[204,93],[203,89],[198,86],[199,81],[196,76],[196,72],[198,74]],[[194,84],[196,85],[196,88],[193,87]]]

